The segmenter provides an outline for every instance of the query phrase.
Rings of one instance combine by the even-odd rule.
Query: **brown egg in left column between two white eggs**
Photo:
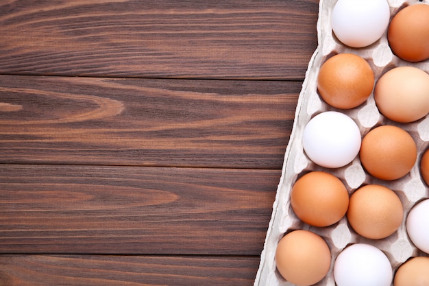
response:
[[[373,90],[374,73],[368,62],[352,53],[339,53],[324,62],[317,90],[330,106],[349,109],[363,104]]]

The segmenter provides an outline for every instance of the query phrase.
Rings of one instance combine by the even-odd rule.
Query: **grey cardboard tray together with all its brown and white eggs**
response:
[[[380,6],[371,8],[379,11],[368,25],[386,26],[367,28],[378,34],[369,42],[334,29],[334,8],[347,1]],[[421,285],[412,277],[429,285],[428,11],[407,29],[423,41],[408,45],[412,51],[389,38],[404,33],[389,30],[396,15],[429,1],[387,0],[387,8],[383,1],[319,2],[319,45],[299,95],[255,286]],[[347,98],[336,95],[343,91]]]

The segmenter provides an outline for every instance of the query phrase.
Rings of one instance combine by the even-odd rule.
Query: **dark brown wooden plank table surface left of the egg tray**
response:
[[[317,0],[0,2],[0,285],[253,285]]]

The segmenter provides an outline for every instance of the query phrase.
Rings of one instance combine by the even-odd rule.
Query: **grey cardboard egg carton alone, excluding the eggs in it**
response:
[[[391,18],[406,5],[419,3],[417,0],[388,0]],[[429,0],[423,1],[429,3]],[[394,67],[411,66],[417,67],[429,73],[429,60],[424,62],[406,62],[393,55],[387,40],[387,31],[380,40],[373,45],[364,48],[351,48],[343,45],[337,40],[332,32],[331,12],[336,0],[319,1],[319,19],[317,21],[318,47],[308,64],[306,78],[299,94],[297,110],[295,112],[295,122],[289,145],[284,155],[282,167],[282,177],[278,184],[278,189],[273,204],[273,213],[267,237],[265,239],[264,250],[260,257],[260,266],[256,275],[254,286],[290,286],[293,285],[285,281],[280,276],[275,267],[275,250],[278,241],[292,230],[305,229],[320,235],[328,243],[332,254],[332,263],[328,275],[317,286],[334,286],[333,265],[338,254],[346,246],[353,243],[369,243],[376,246],[387,255],[391,262],[393,271],[404,263],[410,257],[426,256],[424,252],[418,250],[408,239],[406,233],[406,215],[417,202],[429,198],[429,187],[421,179],[419,171],[421,155],[429,147],[429,116],[413,123],[396,123],[382,116],[378,111],[373,99],[373,93],[367,99],[367,102],[350,110],[339,110],[328,106],[317,93],[317,75],[321,64],[330,56],[336,53],[354,53],[361,56],[373,69],[376,82],[382,74]],[[365,172],[358,156],[352,163],[345,167],[336,169],[327,169],[315,165],[304,153],[302,147],[302,134],[306,123],[315,115],[328,110],[336,110],[352,117],[358,124],[362,136],[365,136],[369,130],[381,125],[394,125],[409,132],[417,144],[418,156],[417,162],[409,174],[394,181],[384,181],[373,178]],[[317,228],[304,224],[297,218],[291,208],[289,195],[291,187],[300,175],[308,171],[327,171],[340,178],[347,187],[349,193],[353,193],[363,184],[382,184],[392,189],[400,197],[404,206],[404,219],[400,228],[391,236],[385,239],[366,239],[356,234],[347,224],[347,218],[343,217],[340,222],[325,228]]]

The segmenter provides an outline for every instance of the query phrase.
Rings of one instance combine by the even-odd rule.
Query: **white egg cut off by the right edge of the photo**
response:
[[[429,254],[429,199],[413,206],[406,219],[406,231],[415,246]]]

